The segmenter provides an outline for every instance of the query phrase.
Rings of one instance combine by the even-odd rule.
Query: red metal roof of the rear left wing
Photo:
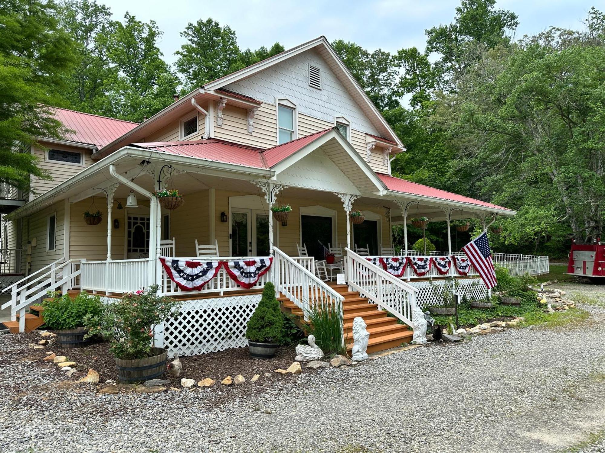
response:
[[[65,140],[102,148],[139,124],[53,107],[54,117],[67,129]]]

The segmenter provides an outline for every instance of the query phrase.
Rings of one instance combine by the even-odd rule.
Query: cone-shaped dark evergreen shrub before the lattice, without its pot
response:
[[[283,341],[284,318],[280,303],[275,298],[275,286],[270,281],[263,289],[263,296],[254,310],[246,329],[246,338],[259,343]]]

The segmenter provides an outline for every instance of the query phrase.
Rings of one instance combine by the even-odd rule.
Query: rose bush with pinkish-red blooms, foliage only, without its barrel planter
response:
[[[117,359],[143,359],[151,356],[154,327],[176,318],[181,302],[157,294],[158,285],[126,293],[103,306],[99,315],[85,318],[87,336],[101,335],[111,342],[110,352]]]

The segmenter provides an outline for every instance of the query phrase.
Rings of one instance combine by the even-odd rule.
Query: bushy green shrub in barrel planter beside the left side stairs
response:
[[[72,349],[90,344],[90,338],[84,338],[88,332],[84,327],[84,318],[99,315],[103,303],[99,296],[87,292],[80,292],[73,299],[69,294],[60,296],[58,292],[49,292],[42,307],[44,324],[48,329],[57,331],[60,347]]]

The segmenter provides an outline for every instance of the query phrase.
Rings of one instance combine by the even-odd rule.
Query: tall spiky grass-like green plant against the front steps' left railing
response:
[[[346,355],[342,332],[342,309],[340,304],[313,304],[307,312],[309,335],[315,335],[315,343],[325,355]],[[352,342],[353,339],[348,339]]]

